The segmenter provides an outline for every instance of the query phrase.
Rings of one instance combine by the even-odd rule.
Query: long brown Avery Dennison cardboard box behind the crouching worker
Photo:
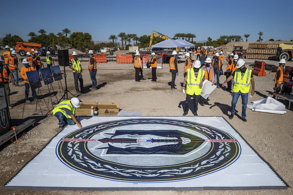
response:
[[[76,114],[91,114],[91,107],[98,107],[98,115],[117,115],[119,113],[119,102],[81,102],[76,108]]]

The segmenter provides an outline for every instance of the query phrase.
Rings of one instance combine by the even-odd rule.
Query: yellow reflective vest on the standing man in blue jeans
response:
[[[238,93],[239,90],[243,94],[249,92],[251,73],[252,71],[247,68],[243,78],[241,79],[241,71],[239,68],[235,71],[233,92]]]

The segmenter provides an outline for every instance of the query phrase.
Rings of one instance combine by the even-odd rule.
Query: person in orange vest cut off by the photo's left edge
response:
[[[7,64],[3,64],[4,59],[0,56],[0,84],[4,86],[5,94],[6,94],[6,100],[8,103],[8,108],[12,109],[10,106],[10,99],[9,99],[9,80],[11,80],[11,84],[14,85],[14,82],[12,80],[10,69],[8,68]]]

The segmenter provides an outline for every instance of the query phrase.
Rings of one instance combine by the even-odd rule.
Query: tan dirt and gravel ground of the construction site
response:
[[[115,53],[119,53],[117,51]],[[19,57],[19,56],[18,56]],[[42,57],[44,58],[44,57]],[[253,63],[254,60],[245,60],[246,67]],[[277,61],[265,60],[266,63],[277,65]],[[168,64],[163,64],[164,69],[157,69],[157,82],[151,82],[151,69],[144,69],[143,74],[147,80],[135,82],[133,64],[117,64],[116,62],[98,63],[97,64],[97,82],[98,90],[91,90],[91,80],[87,70],[88,62],[82,62],[82,73],[84,79],[84,87],[86,94],[81,94],[78,97],[82,101],[117,101],[120,102],[120,108],[125,112],[141,112],[143,116],[182,116],[185,105],[185,94],[182,93],[181,84],[183,83],[183,63],[178,65],[179,75],[176,78],[175,84],[177,89],[171,89],[171,73],[169,73]],[[224,63],[223,69],[226,69],[227,63]],[[287,62],[286,65],[293,65],[293,61]],[[20,68],[22,64],[20,63]],[[62,67],[63,68],[63,67]],[[64,73],[64,70],[62,73]],[[75,95],[73,75],[68,67],[66,67],[68,89]],[[268,74],[266,77],[255,78],[255,95],[248,102],[272,96],[272,81],[275,75]],[[220,77],[220,83],[224,82],[226,77]],[[31,104],[24,102],[24,82],[19,83],[21,87],[11,86],[10,102],[13,107],[10,110],[12,119],[21,119],[24,107],[24,118],[35,118],[37,123],[35,127],[29,128],[24,137],[20,141],[12,144],[7,142],[0,147],[0,184],[4,184],[17,170],[21,168],[30,158],[32,158],[55,134],[59,132],[58,121],[54,116],[47,114],[45,121],[42,119],[39,106],[36,109],[36,102]],[[43,83],[42,83],[43,84]],[[52,84],[56,94],[52,96],[52,101],[56,101],[62,95],[60,93],[58,83]],[[62,80],[64,88],[64,79]],[[49,102],[49,109],[52,108],[51,100],[47,86],[40,88],[42,96],[41,107],[43,114],[48,112],[45,105]],[[241,100],[236,104],[236,111],[233,120],[228,118],[231,113],[231,95],[225,91],[226,87],[216,89],[209,96],[209,103],[212,106],[198,105],[198,115],[202,116],[223,116],[231,125],[238,130],[243,137],[251,144],[258,153],[268,161],[280,176],[290,185],[293,185],[293,163],[292,163],[292,135],[293,135],[293,108],[287,110],[285,115],[269,114],[253,112],[249,109],[246,111],[246,119],[248,122],[243,122],[241,118]],[[51,90],[52,92],[52,90]],[[61,89],[62,92],[62,89]],[[39,94],[40,95],[40,94]],[[44,98],[44,100],[43,100]],[[30,94],[30,100],[32,100]],[[288,108],[288,101],[282,101]],[[51,105],[50,105],[51,104]],[[192,103],[190,104],[192,109]],[[192,115],[192,110],[188,116]],[[14,120],[12,120],[13,122]],[[82,125],[82,124],[81,124]],[[287,190],[245,190],[245,191],[37,191],[37,190],[4,190],[0,189],[0,194],[32,194],[32,195],[49,195],[49,194],[160,194],[160,195],[189,195],[189,194],[293,194],[292,188]]]

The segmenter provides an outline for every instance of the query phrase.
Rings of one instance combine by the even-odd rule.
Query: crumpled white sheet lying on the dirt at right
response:
[[[266,113],[273,113],[273,114],[286,113],[285,105],[271,97],[255,100],[252,103],[253,104],[247,105],[247,108],[251,109],[252,111],[266,112]]]

